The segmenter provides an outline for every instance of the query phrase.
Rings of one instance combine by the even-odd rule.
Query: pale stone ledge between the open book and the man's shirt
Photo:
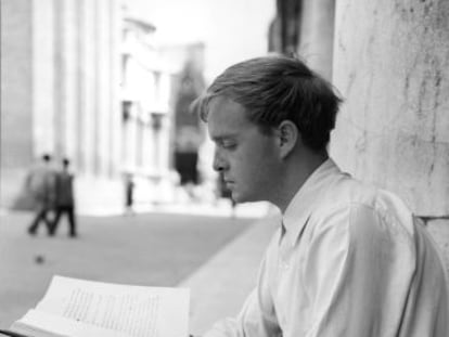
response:
[[[259,220],[213,256],[179,286],[191,289],[190,333],[203,335],[220,319],[235,316],[256,285],[275,217]]]

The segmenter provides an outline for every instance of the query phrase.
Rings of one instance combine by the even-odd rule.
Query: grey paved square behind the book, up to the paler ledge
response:
[[[30,213],[0,216],[0,326],[43,296],[53,274],[124,284],[175,286],[254,219],[147,213],[80,217],[70,239],[63,219],[55,237],[26,234]],[[39,260],[42,260],[39,263]]]

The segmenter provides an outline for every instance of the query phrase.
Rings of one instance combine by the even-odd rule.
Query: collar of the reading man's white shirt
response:
[[[292,246],[295,245],[306,225],[316,207],[316,202],[322,199],[323,193],[341,173],[334,160],[328,158],[310,174],[290,202],[282,221],[285,228],[285,238]]]

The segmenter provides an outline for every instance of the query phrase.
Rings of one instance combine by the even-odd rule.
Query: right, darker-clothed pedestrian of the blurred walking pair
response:
[[[68,219],[68,235],[77,236],[76,218],[75,218],[75,199],[74,199],[74,176],[69,172],[70,161],[67,158],[62,160],[62,169],[56,172],[55,180],[55,218],[51,229],[51,235],[57,230],[60,219],[63,215]]]

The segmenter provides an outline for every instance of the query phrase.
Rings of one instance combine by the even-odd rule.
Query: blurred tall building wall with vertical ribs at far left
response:
[[[102,197],[117,204],[118,0],[7,0],[1,25],[2,205],[14,203],[42,153],[72,160],[77,191],[93,187],[78,198],[80,208]]]

